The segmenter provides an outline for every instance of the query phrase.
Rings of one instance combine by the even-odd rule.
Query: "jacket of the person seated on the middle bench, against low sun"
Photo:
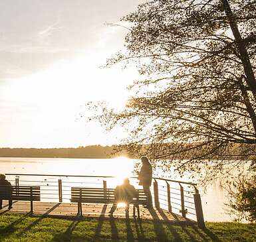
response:
[[[136,195],[136,189],[130,184],[116,186],[116,189],[114,190],[114,198],[116,202],[132,202],[133,198],[136,198]]]

